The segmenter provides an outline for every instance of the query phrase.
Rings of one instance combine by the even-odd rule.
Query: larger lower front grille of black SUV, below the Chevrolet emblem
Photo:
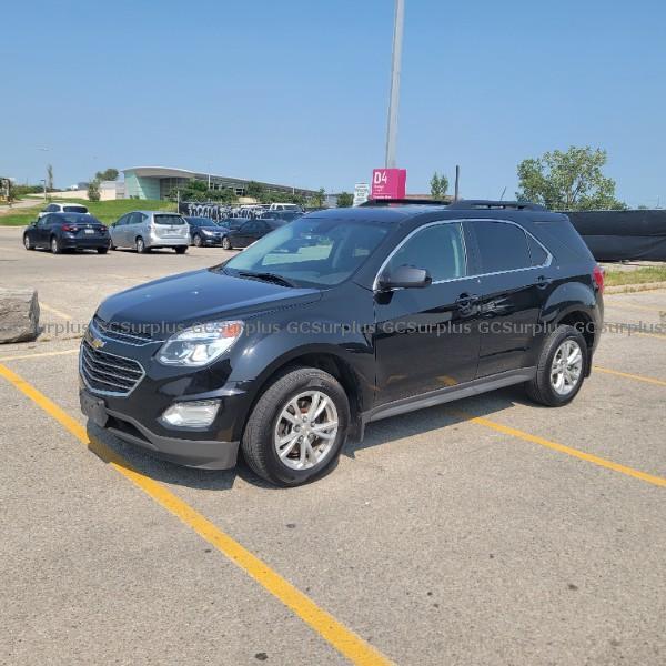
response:
[[[143,367],[132,359],[108,354],[81,344],[81,374],[92,391],[128,395],[143,379]]]

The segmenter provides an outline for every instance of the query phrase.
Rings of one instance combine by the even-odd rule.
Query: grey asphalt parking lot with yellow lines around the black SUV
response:
[[[559,410],[511,389],[372,424],[294,490],[87,431],[98,303],[225,255],[54,256],[0,228],[0,282],[44,325],[0,347],[0,663],[665,663],[666,335],[606,333]],[[605,300],[666,316],[666,289]]]

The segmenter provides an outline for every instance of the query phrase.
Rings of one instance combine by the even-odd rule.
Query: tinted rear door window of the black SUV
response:
[[[476,244],[484,273],[512,271],[532,265],[527,236],[515,224],[475,220]]]

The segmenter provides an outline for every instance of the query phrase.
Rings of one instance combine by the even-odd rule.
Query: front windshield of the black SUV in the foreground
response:
[[[224,264],[231,275],[272,273],[299,286],[332,286],[352,275],[387,233],[373,222],[301,218]]]

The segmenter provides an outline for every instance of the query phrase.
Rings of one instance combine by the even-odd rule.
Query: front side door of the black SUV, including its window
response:
[[[376,405],[474,380],[478,280],[468,278],[462,228],[436,222],[413,232],[383,271],[426,269],[422,289],[375,293]]]

